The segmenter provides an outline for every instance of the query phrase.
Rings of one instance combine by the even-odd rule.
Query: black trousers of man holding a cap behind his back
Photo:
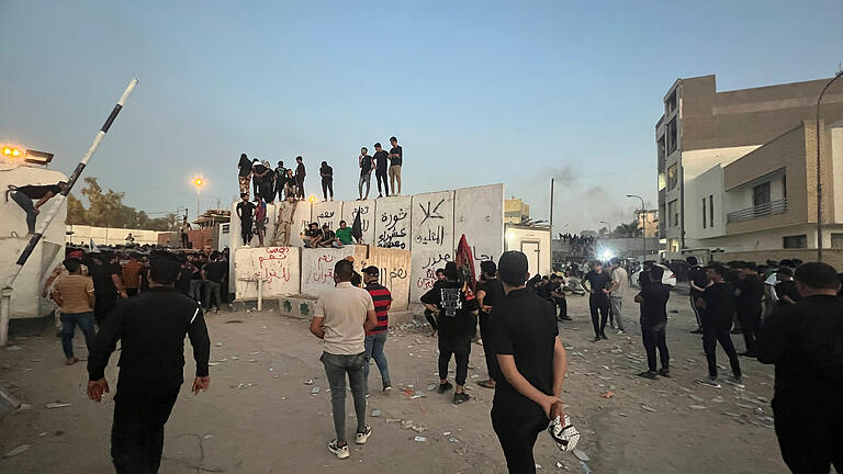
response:
[[[492,405],[492,428],[504,450],[506,467],[510,474],[536,473],[532,447],[548,424],[544,413],[532,402],[506,403],[495,398]]]

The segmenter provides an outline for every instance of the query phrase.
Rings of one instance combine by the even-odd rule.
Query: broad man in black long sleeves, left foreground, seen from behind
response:
[[[117,473],[157,473],[164,425],[184,382],[184,336],[190,337],[196,376],[192,391],[206,391],[211,341],[199,303],[173,289],[181,263],[171,252],[150,257],[149,291],[124,300],[92,339],[88,354],[88,396],[109,392],[105,366],[121,341],[114,395],[111,456]]]

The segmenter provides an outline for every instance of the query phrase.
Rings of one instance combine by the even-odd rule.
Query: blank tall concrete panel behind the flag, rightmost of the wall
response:
[[[480,279],[480,262],[493,260],[497,263],[504,252],[504,185],[490,184],[462,188],[454,191],[453,199],[453,246],[465,239],[474,255],[474,271]]]

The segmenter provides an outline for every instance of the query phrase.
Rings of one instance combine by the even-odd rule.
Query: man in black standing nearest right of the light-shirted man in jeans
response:
[[[641,304],[641,339],[647,351],[647,372],[639,376],[655,379],[655,375],[670,376],[671,356],[667,353],[667,342],[664,330],[667,326],[667,300],[671,297],[670,285],[662,283],[664,269],[653,266],[647,272],[647,283],[641,286],[641,292],[636,295],[636,302]],[[659,357],[662,369],[655,371],[655,349],[659,348]]]

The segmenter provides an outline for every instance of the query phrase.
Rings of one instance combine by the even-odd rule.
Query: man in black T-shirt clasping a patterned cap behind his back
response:
[[[498,261],[505,297],[492,309],[488,346],[497,359],[492,427],[510,473],[535,473],[532,448],[550,419],[564,419],[562,383],[567,358],[555,311],[525,289],[527,256],[507,251]]]

